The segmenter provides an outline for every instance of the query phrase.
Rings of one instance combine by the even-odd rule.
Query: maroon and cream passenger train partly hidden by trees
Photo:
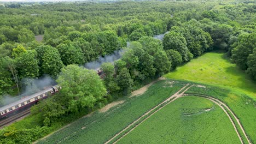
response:
[[[104,72],[101,69],[96,69],[96,73],[101,77],[101,79],[103,79],[105,76]],[[58,85],[53,87],[48,87],[43,91],[34,93],[30,96],[27,96],[18,101],[15,101],[14,103],[10,103],[8,105],[0,107],[0,119],[4,117],[8,117],[9,115],[15,114],[16,112],[25,110],[28,107],[31,107],[33,104],[36,104],[37,101],[45,99],[49,97],[49,95],[53,95],[59,92],[60,89],[61,89],[61,86],[58,86]]]

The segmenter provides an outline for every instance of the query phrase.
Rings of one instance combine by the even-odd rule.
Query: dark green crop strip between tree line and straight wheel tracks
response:
[[[185,85],[178,82],[173,83],[173,87],[163,87],[165,83],[156,82],[143,95],[126,98],[123,104],[107,112],[95,112],[90,117],[79,119],[39,143],[104,143]]]

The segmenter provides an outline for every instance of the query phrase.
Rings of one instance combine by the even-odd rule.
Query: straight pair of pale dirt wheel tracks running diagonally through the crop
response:
[[[139,120],[141,120],[143,117],[147,116],[146,119],[148,119],[150,116],[154,115],[154,113],[158,112],[160,109],[162,109],[163,107],[165,107],[167,104],[171,103],[172,101],[176,100],[179,97],[182,97],[182,95],[184,94],[185,91],[187,91],[191,86],[189,86],[189,83],[187,85],[185,85],[183,88],[179,89],[178,92],[174,93],[173,95],[171,95],[171,97],[167,98],[166,100],[162,101],[162,103],[156,105],[155,107],[153,107],[153,109],[149,110],[148,112],[146,112],[144,115],[142,115],[141,117],[139,117],[138,119],[136,119],[136,121],[132,122],[131,124],[129,124],[125,129],[121,130],[118,134],[116,134],[115,136],[113,136],[111,139],[109,139],[107,142],[105,142],[105,144],[109,143],[110,141],[112,141],[113,139],[115,139],[115,137],[119,136],[121,133],[123,133],[125,130],[129,129],[133,124],[137,123]],[[185,89],[185,91],[181,92],[184,88],[188,87],[187,89]],[[171,100],[172,99],[172,100]],[[165,104],[167,103],[167,104]],[[149,115],[150,112],[154,111],[155,109],[157,109],[160,105],[165,104],[164,106],[160,107],[160,109],[156,110],[155,112],[153,112],[152,114]],[[144,119],[142,122],[146,121],[146,119]],[[139,124],[141,124],[142,122],[139,122]],[[129,130],[125,135],[129,134],[133,129],[135,129],[136,127],[138,127],[137,124],[134,128],[132,128],[131,130]],[[117,141],[115,141],[114,143],[118,142],[121,138],[123,138],[125,135],[121,136]]]

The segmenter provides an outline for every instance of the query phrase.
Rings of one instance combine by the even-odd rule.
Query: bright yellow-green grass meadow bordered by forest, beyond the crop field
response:
[[[165,77],[231,87],[256,99],[256,82],[223,55],[224,53],[217,52],[205,53],[166,74]]]

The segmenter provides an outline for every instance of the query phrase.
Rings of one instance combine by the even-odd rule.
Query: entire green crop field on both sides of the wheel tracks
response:
[[[172,83],[172,84],[170,84]],[[162,80],[150,86],[139,97],[124,98],[123,104],[107,112],[94,112],[66,128],[57,131],[39,143],[104,143],[125,129],[144,113],[176,93],[188,81]],[[191,82],[189,82],[191,83]],[[204,94],[223,101],[240,120],[251,142],[256,141],[256,101],[245,93],[212,85],[200,87],[191,83],[185,93]],[[172,86],[172,87],[170,87]],[[159,109],[159,108],[158,108]],[[211,109],[210,111],[205,111]],[[229,112],[230,114],[230,112]],[[146,116],[147,117],[147,116]],[[144,118],[146,118],[144,117]],[[240,143],[232,124],[220,107],[210,100],[199,97],[182,97],[154,113],[151,117],[121,138],[119,143]],[[234,121],[234,117],[231,117]],[[132,124],[134,128],[136,124]],[[247,143],[242,130],[235,122],[243,142]],[[111,142],[118,140],[127,131]]]

